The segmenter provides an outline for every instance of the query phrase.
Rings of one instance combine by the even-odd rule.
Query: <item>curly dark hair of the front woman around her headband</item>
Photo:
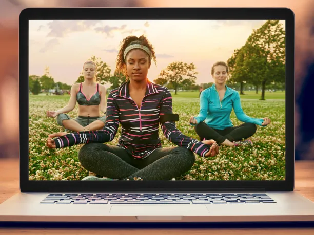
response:
[[[156,56],[155,56],[154,48],[150,44],[150,42],[147,40],[145,35],[142,35],[140,37],[128,36],[124,38],[120,44],[120,50],[119,50],[117,60],[116,60],[116,71],[121,72],[123,75],[125,75],[126,80],[128,80],[128,72],[126,69],[126,61],[124,60],[123,53],[128,46],[133,45],[133,44],[141,44],[148,47],[149,50],[151,51],[152,59],[154,60],[156,64]],[[150,61],[149,61],[149,64],[150,64]]]

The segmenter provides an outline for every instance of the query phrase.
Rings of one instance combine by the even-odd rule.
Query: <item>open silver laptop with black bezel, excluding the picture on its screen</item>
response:
[[[84,14],[82,14],[84,12]],[[286,22],[286,175],[282,181],[32,181],[28,165],[28,22],[36,19],[283,19]],[[314,221],[294,188],[293,12],[285,8],[25,9],[19,25],[20,189],[1,222]],[[195,40],[197,40],[195,38]],[[230,40],[232,40],[230,38]],[[133,203],[126,202],[129,199]],[[160,199],[165,200],[164,202]],[[98,201],[96,201],[98,200]],[[84,202],[83,202],[84,201]],[[123,201],[124,203],[121,203]],[[44,203],[43,203],[44,202]],[[75,203],[74,203],[75,202]],[[79,203],[82,202],[82,203]],[[97,203],[99,202],[99,203]],[[219,203],[218,203],[219,202]],[[232,202],[232,203],[231,203]],[[237,202],[237,203],[235,203]]]

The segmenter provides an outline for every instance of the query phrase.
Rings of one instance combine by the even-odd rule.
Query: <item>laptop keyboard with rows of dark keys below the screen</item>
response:
[[[276,203],[266,194],[49,194],[49,204]]]

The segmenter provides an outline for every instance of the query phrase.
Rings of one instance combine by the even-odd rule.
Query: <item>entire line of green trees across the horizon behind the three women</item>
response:
[[[112,74],[110,66],[101,58],[92,56],[88,60],[93,61],[97,66],[96,81],[101,84],[111,84],[109,89],[117,88],[126,81],[126,77],[121,72],[114,71]],[[239,88],[240,94],[244,94],[245,84],[255,87],[257,93],[261,88],[261,100],[265,99],[265,90],[267,88],[284,90],[285,31],[279,20],[267,20],[259,29],[253,30],[245,45],[240,49],[235,49],[227,63],[230,70],[227,84],[230,87]],[[199,85],[195,84],[198,74],[196,70],[194,63],[174,61],[161,70],[159,76],[153,82],[174,89],[175,94],[179,89],[196,90],[200,88]],[[211,66],[209,65],[209,76],[210,70]],[[81,72],[75,83],[83,81],[84,76]],[[37,87],[52,89],[56,86],[53,78],[47,73],[42,77],[29,76],[29,84],[33,90],[38,89]],[[202,87],[206,89],[211,85],[211,82],[203,83]],[[61,82],[58,83],[58,87],[60,89],[70,89],[69,85]]]

